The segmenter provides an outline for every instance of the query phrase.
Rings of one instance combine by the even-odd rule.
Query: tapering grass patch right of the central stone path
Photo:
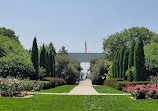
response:
[[[123,91],[103,85],[93,86],[93,88],[99,93],[124,93]]]

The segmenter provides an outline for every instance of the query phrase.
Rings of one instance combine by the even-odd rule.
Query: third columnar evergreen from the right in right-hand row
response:
[[[128,69],[128,56],[129,56],[129,49],[126,49],[124,56],[123,56],[123,75],[122,75],[122,78],[124,80],[127,80],[125,73]]]

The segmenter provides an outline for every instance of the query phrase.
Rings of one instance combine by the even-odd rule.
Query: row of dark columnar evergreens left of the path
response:
[[[36,37],[33,41],[31,60],[35,69],[35,75],[33,79],[38,80],[39,78],[55,77],[55,48],[52,43],[49,46],[43,44],[43,46],[38,49]],[[42,74],[39,74],[40,70]]]

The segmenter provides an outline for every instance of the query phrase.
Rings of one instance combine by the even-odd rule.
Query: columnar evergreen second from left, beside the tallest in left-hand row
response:
[[[40,67],[46,68],[46,48],[44,44],[40,53]]]

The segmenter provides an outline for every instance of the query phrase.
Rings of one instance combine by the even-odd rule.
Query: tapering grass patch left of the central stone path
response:
[[[45,89],[41,91],[36,91],[36,92],[46,92],[46,93],[68,93],[70,92],[76,85],[62,85],[62,86],[57,86],[51,89]]]

